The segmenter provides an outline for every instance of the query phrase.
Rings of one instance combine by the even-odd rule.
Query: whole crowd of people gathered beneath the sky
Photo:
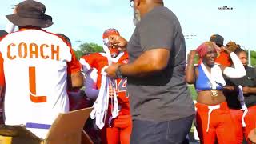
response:
[[[84,129],[94,143],[189,143],[192,122],[201,143],[253,143],[256,69],[246,51],[214,34],[186,62],[182,27],[163,1],[130,6],[129,42],[107,29],[104,52],[78,61],[65,34],[43,30],[53,22],[42,3],[19,3],[6,16],[10,29],[0,30],[0,124],[45,138],[59,113],[92,106]],[[188,84],[197,90],[195,106]]]

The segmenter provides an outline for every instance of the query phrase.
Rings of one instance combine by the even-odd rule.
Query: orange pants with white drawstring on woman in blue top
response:
[[[212,107],[214,110],[210,114],[209,106],[201,103],[196,103],[195,106],[197,108],[196,127],[201,143],[214,144],[216,136],[218,144],[235,143],[234,121],[226,102]]]

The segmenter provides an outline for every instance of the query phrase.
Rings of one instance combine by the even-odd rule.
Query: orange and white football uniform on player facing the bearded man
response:
[[[118,54],[116,58],[112,58],[111,61],[115,63],[127,63],[128,54],[126,52],[122,52]],[[94,53],[83,56],[80,59],[80,63],[82,64],[82,69],[85,73],[88,72],[89,74],[92,74],[97,71],[97,78],[92,79],[95,82],[95,88],[99,90],[102,84],[102,68],[108,66],[108,59],[106,57],[106,54]],[[93,72],[91,72],[90,70],[93,70]],[[109,105],[106,124],[101,130],[102,143],[130,143],[130,133],[132,125],[128,98],[129,95],[126,91],[126,78],[115,79],[114,85],[118,95],[119,113],[118,117],[112,119],[111,121],[111,108],[113,107]]]

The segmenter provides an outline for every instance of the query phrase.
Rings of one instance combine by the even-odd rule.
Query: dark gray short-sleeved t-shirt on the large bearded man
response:
[[[155,7],[142,17],[127,46],[129,61],[155,48],[170,50],[165,70],[143,78],[128,77],[133,119],[170,121],[194,114],[185,82],[186,46],[178,18],[166,7]],[[148,59],[150,61],[150,59]]]

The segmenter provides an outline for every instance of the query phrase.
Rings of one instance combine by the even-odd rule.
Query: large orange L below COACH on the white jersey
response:
[[[29,67],[30,77],[30,100],[34,103],[47,102],[46,96],[37,96],[35,67]]]

